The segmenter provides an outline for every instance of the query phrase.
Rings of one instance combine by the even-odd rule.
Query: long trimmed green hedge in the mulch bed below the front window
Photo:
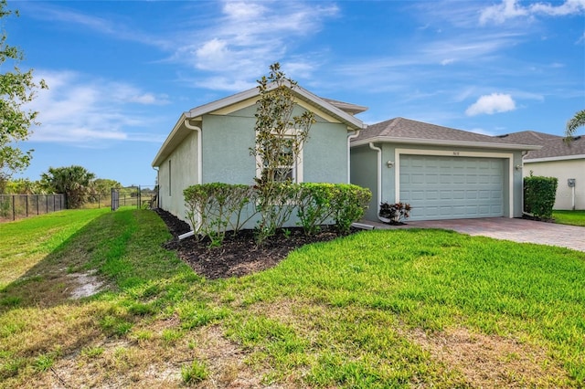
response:
[[[279,189],[280,188],[280,189]],[[349,232],[352,223],[359,220],[371,199],[371,192],[354,184],[283,183],[274,188],[270,206],[262,206],[258,188],[242,184],[198,184],[183,191],[187,218],[194,228],[196,238],[209,237],[212,246],[220,246],[228,231],[237,233],[250,219],[262,212],[259,230],[262,241],[275,231],[262,228],[262,222],[271,220],[282,227],[297,211],[299,225],[307,235],[319,232],[328,222],[333,222],[342,234]],[[281,208],[286,208],[282,212]],[[273,215],[272,215],[273,214]]]

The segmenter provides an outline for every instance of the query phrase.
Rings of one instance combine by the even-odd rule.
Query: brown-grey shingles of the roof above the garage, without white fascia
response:
[[[395,118],[389,121],[382,121],[377,124],[367,126],[367,129],[361,131],[359,136],[353,142],[367,142],[367,140],[384,140],[397,141],[433,141],[441,142],[463,142],[463,143],[481,143],[493,144],[497,146],[526,144],[534,145],[534,142],[516,142],[511,139],[501,139],[493,136],[482,135],[480,133],[456,130],[449,127],[442,127],[435,124],[425,123],[422,121],[412,121],[410,119]]]

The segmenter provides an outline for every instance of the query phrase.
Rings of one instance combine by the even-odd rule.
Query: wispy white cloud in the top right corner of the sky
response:
[[[481,12],[480,23],[494,22],[502,24],[507,19],[516,17],[544,16],[568,16],[580,15],[585,12],[585,0],[566,0],[561,5],[550,5],[548,3],[534,3],[531,5],[520,5],[517,0],[502,0],[499,5],[490,5]]]

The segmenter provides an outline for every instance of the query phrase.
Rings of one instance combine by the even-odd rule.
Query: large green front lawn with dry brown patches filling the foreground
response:
[[[2,387],[585,383],[585,253],[375,230],[208,281],[154,212],[49,217],[0,226]]]

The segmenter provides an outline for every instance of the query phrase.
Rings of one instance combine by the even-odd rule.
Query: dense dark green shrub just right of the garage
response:
[[[532,175],[524,177],[524,211],[543,220],[552,218],[558,179]]]

